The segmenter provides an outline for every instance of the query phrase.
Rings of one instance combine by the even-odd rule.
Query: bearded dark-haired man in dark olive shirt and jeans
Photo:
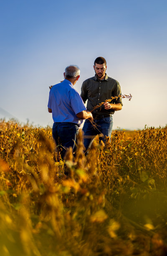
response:
[[[96,58],[94,61],[95,76],[86,79],[82,84],[81,98],[84,103],[88,100],[87,109],[90,111],[92,111],[96,105],[99,105],[99,103],[111,99],[112,96],[121,95],[119,82],[107,76],[106,68],[106,60],[103,57]],[[112,100],[110,103],[105,102],[101,108],[97,108],[92,112],[97,128],[95,129],[89,121],[85,121],[83,132],[86,150],[97,134],[100,135],[99,139],[104,142],[105,136],[111,136],[113,126],[112,115],[115,111],[121,110],[121,108],[122,101],[119,97],[117,100]]]

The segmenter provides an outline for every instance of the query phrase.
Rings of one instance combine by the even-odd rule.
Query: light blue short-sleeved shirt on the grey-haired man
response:
[[[81,125],[83,120],[77,118],[76,114],[86,110],[81,96],[67,79],[51,88],[48,108],[52,110],[54,122],[70,122],[78,125]]]

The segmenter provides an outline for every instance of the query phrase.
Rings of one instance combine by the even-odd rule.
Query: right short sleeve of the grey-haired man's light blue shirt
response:
[[[73,94],[71,94],[70,104],[75,114],[78,114],[83,110],[86,110],[86,107],[83,103],[81,96],[76,91]]]

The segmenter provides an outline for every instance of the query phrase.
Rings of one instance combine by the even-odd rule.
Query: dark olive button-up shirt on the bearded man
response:
[[[87,110],[91,111],[96,105],[105,100],[111,99],[112,96],[121,95],[121,87],[119,82],[115,79],[108,77],[107,74],[103,80],[99,80],[96,75],[89,79],[86,79],[81,87],[81,98],[83,102],[87,102]],[[117,100],[114,99],[110,103],[120,103],[122,100],[119,97]],[[105,114],[114,114],[114,111],[111,109],[105,110],[104,105],[101,108],[97,108],[93,111],[94,115],[105,115]]]

